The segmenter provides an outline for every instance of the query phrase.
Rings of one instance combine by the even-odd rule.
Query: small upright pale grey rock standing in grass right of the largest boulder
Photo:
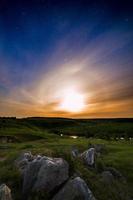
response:
[[[89,167],[94,167],[95,165],[95,149],[94,148],[90,148],[87,151],[83,152],[82,154],[80,154],[80,157]]]

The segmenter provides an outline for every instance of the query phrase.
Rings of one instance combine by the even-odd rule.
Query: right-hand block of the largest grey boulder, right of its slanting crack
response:
[[[68,168],[67,162],[62,158],[44,158],[34,189],[52,191],[68,179]]]

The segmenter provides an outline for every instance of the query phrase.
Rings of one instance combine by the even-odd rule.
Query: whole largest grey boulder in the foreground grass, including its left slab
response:
[[[36,157],[24,171],[23,195],[49,193],[68,179],[68,163],[62,158]]]

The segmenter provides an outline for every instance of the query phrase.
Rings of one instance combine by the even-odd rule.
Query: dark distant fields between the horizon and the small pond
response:
[[[101,139],[133,137],[133,119],[0,118],[1,135],[78,135]]]

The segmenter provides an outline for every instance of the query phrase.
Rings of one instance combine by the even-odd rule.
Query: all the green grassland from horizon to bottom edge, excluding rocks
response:
[[[14,160],[21,152],[31,151],[66,159],[70,175],[80,175],[97,200],[130,200],[133,198],[132,130],[132,119],[0,118],[0,183],[5,182],[12,189],[13,199],[21,199],[22,180]],[[79,137],[72,139],[70,135]],[[10,140],[5,141],[5,136]],[[96,160],[96,169],[88,169],[80,159],[71,156],[73,147],[83,152],[92,144],[105,145]],[[101,172],[108,166],[119,170],[126,182],[114,180],[106,184]]]

